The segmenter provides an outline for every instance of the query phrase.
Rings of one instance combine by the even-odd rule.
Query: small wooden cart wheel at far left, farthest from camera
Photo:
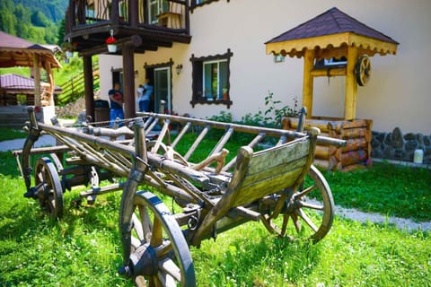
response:
[[[63,215],[63,188],[57,169],[49,158],[43,157],[36,161],[34,178],[40,207],[49,217],[60,218]]]

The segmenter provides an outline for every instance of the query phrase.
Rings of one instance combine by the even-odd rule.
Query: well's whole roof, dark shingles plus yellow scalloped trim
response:
[[[316,50],[328,58],[340,57],[346,47],[358,48],[359,56],[395,55],[398,44],[335,7],[265,43],[267,54],[303,57],[306,50]]]

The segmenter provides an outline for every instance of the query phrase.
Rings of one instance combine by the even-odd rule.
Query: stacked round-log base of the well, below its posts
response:
[[[285,117],[283,129],[297,130],[299,119]],[[307,118],[304,130],[311,126],[321,129],[321,135],[347,141],[347,146],[318,144],[314,165],[325,170],[356,170],[371,167],[371,139],[373,121],[370,119],[344,120],[338,118]]]

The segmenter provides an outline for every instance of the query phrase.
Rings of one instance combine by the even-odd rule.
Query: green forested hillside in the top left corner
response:
[[[68,0],[1,0],[0,30],[40,44],[58,44]]]

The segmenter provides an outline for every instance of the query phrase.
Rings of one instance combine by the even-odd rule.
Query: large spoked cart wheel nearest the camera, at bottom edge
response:
[[[169,209],[147,191],[134,204],[128,273],[136,285],[195,286],[189,246]]]

